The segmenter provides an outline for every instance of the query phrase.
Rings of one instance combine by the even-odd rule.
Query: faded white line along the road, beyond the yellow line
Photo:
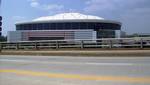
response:
[[[66,64],[66,65],[98,65],[98,66],[133,66],[133,65],[150,65],[150,64],[136,64],[136,63],[94,63],[94,62],[48,62],[35,60],[21,60],[21,59],[0,59],[0,62],[18,62],[18,63],[43,63],[43,64]]]

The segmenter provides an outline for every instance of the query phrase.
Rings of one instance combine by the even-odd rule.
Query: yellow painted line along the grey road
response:
[[[47,72],[34,72],[24,70],[0,69],[0,73],[15,73],[28,76],[39,76],[49,78],[65,78],[78,80],[98,80],[98,81],[124,81],[135,83],[150,83],[150,77],[125,77],[125,76],[92,76],[92,75],[76,75],[76,74],[56,74]]]

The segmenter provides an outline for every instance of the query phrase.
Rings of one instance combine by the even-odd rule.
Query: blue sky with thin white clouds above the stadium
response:
[[[120,21],[127,34],[150,33],[150,0],[2,0],[2,33],[14,31],[16,22],[64,12]]]

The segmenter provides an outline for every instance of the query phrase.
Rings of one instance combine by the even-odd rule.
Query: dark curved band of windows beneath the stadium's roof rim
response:
[[[120,25],[112,23],[37,23],[16,25],[16,30],[65,30],[65,29],[114,29],[120,30]]]

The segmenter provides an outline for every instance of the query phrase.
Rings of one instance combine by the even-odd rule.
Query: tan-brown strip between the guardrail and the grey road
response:
[[[150,50],[3,50],[0,55],[43,55],[43,56],[150,56]]]

